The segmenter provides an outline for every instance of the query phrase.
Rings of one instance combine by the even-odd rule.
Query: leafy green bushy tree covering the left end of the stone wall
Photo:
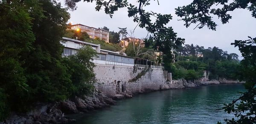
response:
[[[94,56],[96,56],[96,51],[90,46],[84,46],[78,50],[76,55],[63,58],[63,63],[68,68],[67,73],[71,76],[72,85],[69,92],[72,96],[88,94],[94,89],[93,68],[95,65],[90,61]]]

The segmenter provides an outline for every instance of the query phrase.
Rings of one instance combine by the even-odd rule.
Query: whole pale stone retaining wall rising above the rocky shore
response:
[[[142,93],[169,88],[168,86],[166,87],[167,79],[165,78],[163,69],[154,68],[153,66],[140,79],[137,79],[137,81],[129,81],[129,79],[133,79],[144,69],[140,68],[137,72],[134,72],[132,68],[121,66],[101,68],[97,65],[95,70],[96,78],[101,82],[96,83],[95,87],[108,96],[122,92]],[[172,79],[170,82],[172,82]]]

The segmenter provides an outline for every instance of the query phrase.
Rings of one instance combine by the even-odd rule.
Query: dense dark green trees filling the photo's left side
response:
[[[89,75],[93,65],[79,62],[90,63],[83,58],[93,52],[87,48],[83,51],[89,54],[81,52],[83,56],[65,61],[61,57],[60,40],[69,18],[67,9],[55,0],[0,0],[0,120],[10,111],[24,112],[38,101],[67,99],[85,87],[84,93],[89,91],[91,86],[81,84],[93,79]],[[78,65],[68,63],[77,59]],[[76,70],[86,79],[73,76],[75,67],[87,69]]]

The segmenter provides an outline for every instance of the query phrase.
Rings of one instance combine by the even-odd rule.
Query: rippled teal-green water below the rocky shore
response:
[[[216,110],[244,91],[240,84],[209,85],[140,94],[90,113],[76,114],[73,124],[216,124],[232,114]]]

